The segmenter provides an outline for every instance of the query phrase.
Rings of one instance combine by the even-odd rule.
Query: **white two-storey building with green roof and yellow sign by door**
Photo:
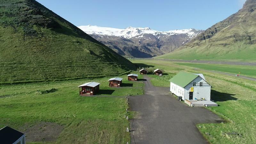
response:
[[[211,100],[211,85],[203,74],[179,72],[170,79],[170,92],[182,100]]]

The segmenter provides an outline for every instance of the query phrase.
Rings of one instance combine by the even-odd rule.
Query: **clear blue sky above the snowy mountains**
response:
[[[76,26],[207,29],[242,8],[245,0],[37,0]]]

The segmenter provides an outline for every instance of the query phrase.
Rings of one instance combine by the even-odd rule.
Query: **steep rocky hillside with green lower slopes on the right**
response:
[[[256,0],[208,28],[164,59],[256,61]]]

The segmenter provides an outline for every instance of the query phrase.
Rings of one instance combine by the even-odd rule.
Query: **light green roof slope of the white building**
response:
[[[172,79],[170,79],[169,81],[184,88],[186,85],[192,82],[197,76],[198,75],[181,71],[177,75],[173,76]]]

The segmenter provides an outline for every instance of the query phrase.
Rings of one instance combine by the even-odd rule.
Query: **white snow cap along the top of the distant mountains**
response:
[[[132,38],[137,36],[143,37],[141,34],[152,34],[153,36],[159,38],[160,35],[172,36],[178,34],[186,34],[189,38],[195,37],[201,33],[201,30],[197,30],[194,28],[190,29],[182,29],[182,30],[170,30],[170,31],[156,31],[151,28],[132,28],[128,27],[125,29],[119,28],[107,28],[107,27],[98,27],[98,26],[79,26],[81,30],[83,30],[87,34],[97,34],[97,35],[107,35],[107,36],[122,36],[124,38]],[[141,35],[141,36],[139,36]]]

